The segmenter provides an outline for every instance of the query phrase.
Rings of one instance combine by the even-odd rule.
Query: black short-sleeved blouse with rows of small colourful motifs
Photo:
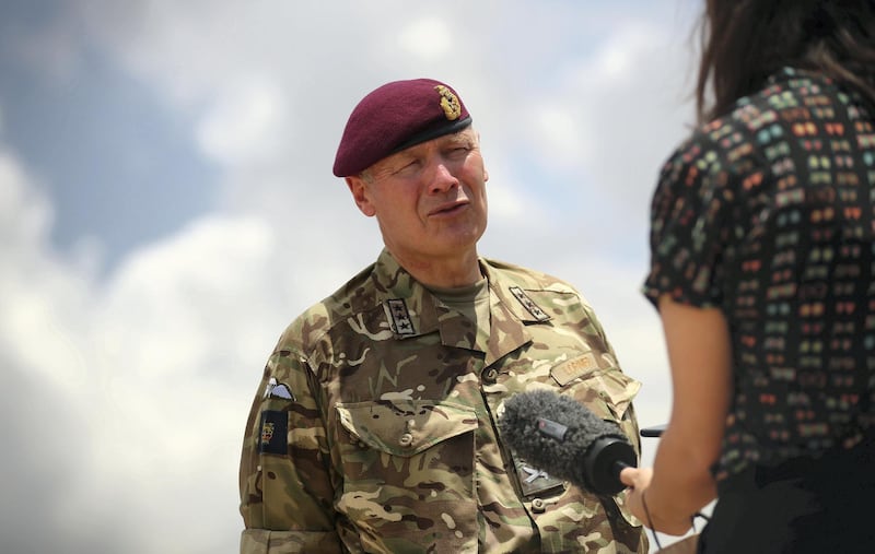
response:
[[[674,152],[651,208],[646,297],[719,308],[730,326],[718,479],[856,444],[875,420],[875,130],[861,98],[779,71]]]

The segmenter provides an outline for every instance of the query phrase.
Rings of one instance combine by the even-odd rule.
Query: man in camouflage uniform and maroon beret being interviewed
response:
[[[462,99],[396,81],[355,107],[335,161],[380,224],[376,262],[285,330],[241,461],[241,552],[646,552],[625,493],[516,456],[503,402],[551,389],[619,423],[632,399],[579,292],[480,258],[488,174]]]

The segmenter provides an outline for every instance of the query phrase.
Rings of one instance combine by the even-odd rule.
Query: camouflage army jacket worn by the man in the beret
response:
[[[625,493],[599,498],[517,459],[503,401],[571,394],[638,448],[632,398],[569,284],[481,259],[489,337],[383,251],[295,319],[270,356],[240,469],[241,552],[646,552]]]

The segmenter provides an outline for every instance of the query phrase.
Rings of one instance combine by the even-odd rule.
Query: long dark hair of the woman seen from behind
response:
[[[784,66],[847,83],[875,106],[875,0],[705,0],[699,32],[700,122]]]

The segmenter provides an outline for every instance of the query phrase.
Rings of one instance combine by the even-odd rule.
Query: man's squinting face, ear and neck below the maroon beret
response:
[[[381,160],[370,178],[348,177],[355,204],[376,216],[400,261],[436,261],[476,252],[486,231],[486,181],[474,129],[432,139]]]

